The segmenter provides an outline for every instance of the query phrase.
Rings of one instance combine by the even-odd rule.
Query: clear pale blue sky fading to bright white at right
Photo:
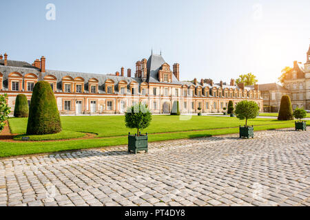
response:
[[[45,19],[54,3],[56,20]],[[49,0],[3,1],[0,53],[45,56],[48,69],[109,74],[148,58],[151,49],[181,80],[230,81],[252,72],[273,83],[293,61],[305,62],[310,1]]]

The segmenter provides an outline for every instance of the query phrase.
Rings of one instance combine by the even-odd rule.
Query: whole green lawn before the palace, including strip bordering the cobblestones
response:
[[[187,116],[183,116],[182,118],[184,117],[187,118]],[[190,120],[180,120],[182,118],[171,115],[153,115],[151,126],[143,132],[150,134],[149,142],[156,142],[238,133],[238,126],[244,124],[243,121],[237,118],[229,117],[195,115]],[[27,119],[10,118],[9,122],[12,133],[25,133]],[[0,157],[127,144],[126,135],[128,131],[135,132],[125,127],[124,116],[61,117],[61,122],[64,131],[97,133],[97,137],[104,138],[57,142],[0,142]],[[255,125],[255,131],[294,126],[293,121],[278,121],[268,118],[250,120],[249,124]]]

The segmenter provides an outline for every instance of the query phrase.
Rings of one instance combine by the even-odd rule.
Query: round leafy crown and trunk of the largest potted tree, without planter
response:
[[[152,113],[149,111],[147,105],[136,104],[125,112],[125,125],[130,129],[137,129],[139,131],[146,129],[152,121]]]

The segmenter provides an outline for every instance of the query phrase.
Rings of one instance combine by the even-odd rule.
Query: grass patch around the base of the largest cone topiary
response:
[[[22,137],[30,137],[30,141],[66,140],[78,137],[85,137],[85,133],[76,131],[61,131],[60,133],[53,133],[49,135],[17,135],[14,137],[14,140],[21,140]]]

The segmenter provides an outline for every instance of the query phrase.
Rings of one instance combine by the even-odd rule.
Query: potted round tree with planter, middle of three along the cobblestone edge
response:
[[[254,126],[247,126],[247,120],[256,118],[260,107],[253,101],[244,100],[236,104],[236,117],[245,120],[245,126],[240,126],[239,133],[241,137],[254,137]]]

